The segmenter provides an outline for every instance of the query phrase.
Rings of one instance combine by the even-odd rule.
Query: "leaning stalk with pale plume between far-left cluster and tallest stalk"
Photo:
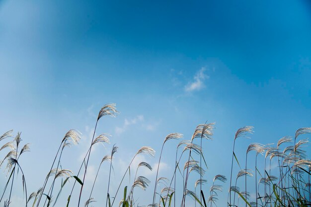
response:
[[[71,138],[71,139],[70,139],[70,138]],[[57,158],[58,154],[60,153],[61,148],[62,148],[61,154],[62,154],[62,152],[63,152],[64,143],[67,143],[67,142],[69,142],[69,141],[71,140],[72,143],[73,143],[74,145],[77,145],[77,144],[78,144],[78,141],[79,141],[80,139],[81,139],[81,138],[80,138],[80,132],[79,132],[78,130],[71,129],[71,130],[69,130],[69,131],[65,134],[65,136],[64,136],[64,138],[63,138],[63,140],[62,140],[62,142],[61,142],[61,144],[60,144],[60,147],[58,148],[58,151],[57,151],[57,153],[56,153],[56,155],[55,155],[55,157],[54,157],[52,166],[51,166],[51,168],[50,168],[50,172],[51,172],[51,170],[53,169],[54,163],[55,163],[55,161],[56,161],[56,158]],[[60,159],[61,159],[61,155],[60,155],[60,157],[59,157],[59,161],[58,161],[57,168],[59,167]],[[45,187],[46,187],[46,185],[47,185],[47,183],[48,183],[48,179],[49,179],[49,176],[47,176],[46,179],[44,180],[43,187],[42,187],[42,191],[40,192],[40,196],[39,196],[39,199],[38,199],[38,202],[37,202],[37,207],[39,207],[41,198],[42,198],[42,196],[43,196],[43,194],[44,194]],[[55,177],[54,177],[54,181],[55,181]],[[54,181],[53,181],[53,184],[52,184],[53,186],[54,186]],[[53,188],[53,187],[51,187],[51,188]],[[48,197],[47,197],[47,198],[48,198]],[[45,202],[46,202],[46,201],[47,201],[47,200],[45,200]]]

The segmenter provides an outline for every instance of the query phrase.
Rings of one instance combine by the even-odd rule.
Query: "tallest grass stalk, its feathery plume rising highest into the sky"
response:
[[[115,117],[119,111],[116,110],[116,104],[105,104],[99,111],[98,113],[98,117],[96,120],[96,124],[95,124],[95,128],[94,128],[94,133],[93,133],[93,137],[92,137],[92,141],[91,141],[91,145],[89,147],[89,151],[88,151],[88,155],[87,155],[87,159],[86,159],[86,163],[83,160],[83,162],[85,163],[85,169],[84,169],[84,174],[83,174],[83,180],[82,180],[82,185],[81,185],[81,189],[80,189],[80,194],[79,194],[79,200],[78,200],[78,207],[80,205],[80,200],[81,200],[81,195],[82,195],[82,190],[83,190],[83,184],[84,184],[84,180],[85,180],[85,175],[86,175],[86,171],[87,171],[87,165],[88,165],[88,160],[89,160],[89,156],[91,154],[91,150],[92,150],[92,145],[93,145],[93,141],[94,141],[94,136],[95,136],[95,132],[96,132],[96,127],[97,127],[97,123],[98,120],[105,116],[105,115],[110,115],[112,117]]]

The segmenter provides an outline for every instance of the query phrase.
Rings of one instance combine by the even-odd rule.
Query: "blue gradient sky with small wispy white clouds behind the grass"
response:
[[[156,158],[139,157],[156,167],[168,133],[190,139],[206,120],[216,122],[214,140],[204,142],[206,191],[216,174],[230,177],[239,127],[255,131],[238,141],[243,159],[251,142],[276,143],[311,126],[310,9],[307,0],[0,0],[0,134],[21,131],[23,143],[31,143],[20,160],[29,192],[43,183],[69,129],[83,139],[66,149],[62,165],[78,171],[106,103],[121,112],[103,117],[97,129],[119,147],[112,192],[140,147],[156,150]],[[171,176],[177,143],[164,147],[160,175]],[[112,144],[91,154],[90,181]],[[105,200],[107,168],[94,206]],[[152,183],[146,193],[137,189],[142,205],[152,203],[155,173],[145,175]],[[228,186],[219,206],[226,205]]]

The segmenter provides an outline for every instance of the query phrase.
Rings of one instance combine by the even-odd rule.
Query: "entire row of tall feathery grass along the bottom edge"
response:
[[[42,187],[37,191],[32,192],[29,197],[27,194],[26,187],[26,175],[24,174],[21,164],[19,162],[20,155],[29,151],[29,144],[21,147],[21,134],[17,133],[15,137],[12,136],[12,130],[5,132],[0,136],[0,142],[4,140],[10,140],[4,143],[0,148],[0,152],[7,151],[4,158],[0,160],[0,167],[6,163],[5,171],[7,172],[7,181],[4,183],[3,192],[0,198],[0,204],[4,207],[9,207],[12,201],[12,194],[14,192],[13,188],[16,188],[18,178],[18,171],[21,172],[23,195],[25,196],[25,207],[27,207],[30,201],[33,200],[32,207],[53,207],[56,205],[60,194],[62,193],[63,187],[68,183],[70,179],[74,179],[74,184],[71,189],[71,194],[68,197],[67,206],[70,206],[70,201],[72,196],[74,196],[73,191],[75,189],[76,183],[80,185],[79,195],[77,196],[78,206],[82,198],[82,189],[86,184],[85,174],[87,172],[87,166],[90,159],[90,153],[93,145],[97,143],[109,144],[109,135],[100,134],[95,138],[95,131],[100,118],[105,115],[115,116],[118,113],[115,104],[104,105],[97,116],[92,141],[90,146],[84,156],[84,159],[80,165],[78,173],[75,174],[72,170],[64,169],[61,165],[63,151],[69,147],[71,144],[78,144],[80,140],[80,133],[77,130],[70,130],[66,133],[64,138],[61,140],[60,147],[52,159],[52,166],[48,171],[47,176],[44,179]],[[223,184],[227,181],[226,176],[218,174],[214,177],[211,182],[211,186],[205,188],[209,184],[205,172],[208,170],[207,162],[209,159],[205,159],[203,155],[203,139],[211,140],[213,136],[214,123],[199,124],[191,137],[190,140],[182,140],[176,146],[175,163],[173,164],[174,171],[172,172],[172,177],[170,179],[166,177],[158,178],[159,164],[161,162],[162,153],[164,150],[164,144],[172,139],[182,139],[182,135],[179,133],[172,133],[165,137],[161,151],[159,154],[157,167],[156,167],[156,180],[155,188],[153,192],[153,201],[149,205],[150,207],[176,207],[176,201],[180,203],[181,207],[186,206],[186,198],[192,198],[194,206],[202,207],[213,207],[217,205],[220,194],[223,192]],[[228,192],[228,205],[229,207],[307,207],[311,205],[311,160],[307,158],[306,145],[309,143],[307,139],[300,139],[304,134],[311,134],[311,128],[300,128],[295,133],[295,138],[285,136],[278,140],[277,144],[260,144],[252,143],[246,149],[245,163],[241,168],[243,163],[239,162],[238,157],[235,154],[235,141],[240,137],[245,137],[247,134],[253,133],[253,127],[246,126],[237,130],[233,139],[233,155],[231,163],[231,174],[230,174],[230,185]],[[199,138],[200,140],[196,141]],[[182,150],[180,150],[182,149]],[[125,169],[125,173],[119,183],[117,190],[114,193],[114,197],[110,197],[110,183],[111,183],[111,170],[113,169],[113,157],[117,152],[118,147],[115,145],[111,149],[111,154],[105,155],[101,162],[98,164],[97,173],[94,177],[91,185],[92,188],[88,192],[88,199],[84,201],[84,207],[92,206],[96,204],[102,198],[93,198],[93,190],[96,184],[96,179],[101,175],[100,168],[103,162],[109,162],[109,176],[107,178],[107,194],[103,200],[106,200],[106,207],[112,207],[115,204],[115,199],[117,198],[120,187],[124,181],[125,176],[130,172],[130,167],[140,154],[147,154],[155,156],[155,151],[151,147],[142,147],[136,154],[132,157],[128,167]],[[251,152],[254,151],[254,157],[251,157]],[[189,153],[189,154],[188,154]],[[178,157],[179,155],[179,157]],[[258,158],[262,155],[264,165],[258,167]],[[235,160],[235,161],[234,161]],[[185,161],[185,162],[183,162]],[[249,168],[249,162],[254,163],[254,170]],[[275,161],[277,166],[273,167],[272,163]],[[184,163],[184,164],[181,164]],[[235,171],[235,165],[239,167],[238,171]],[[149,170],[155,170],[151,167],[151,164],[142,161],[138,164],[134,180],[130,181],[131,186],[128,190],[127,186],[124,188],[123,198],[119,202],[119,206],[122,207],[138,207],[138,198],[135,198],[134,190],[138,187],[142,190],[146,190],[150,185],[150,180],[144,175],[140,175],[138,172],[141,167],[147,168]],[[82,173],[79,178],[80,172]],[[251,178],[254,174],[255,178]],[[191,175],[191,179],[190,179]],[[233,181],[233,176],[235,176],[235,182]],[[58,193],[55,193],[57,187],[56,180],[62,178],[61,187]],[[255,179],[255,182],[250,182],[249,180]],[[50,181],[49,181],[50,180]],[[194,181],[194,185],[189,183]],[[174,181],[174,184],[173,184]],[[29,181],[28,181],[29,182]],[[180,192],[182,192],[179,197],[176,195],[176,182],[182,185]],[[234,185],[232,185],[234,182]],[[169,185],[168,185],[169,184]],[[163,188],[161,191],[157,191],[157,186],[161,185]],[[172,186],[173,185],[173,186]],[[204,186],[204,188],[202,188]],[[2,186],[1,186],[2,187]],[[49,187],[49,188],[48,188]],[[200,191],[198,188],[200,187]],[[49,190],[47,190],[49,189]],[[199,191],[199,192],[198,192]],[[255,197],[252,197],[251,193],[255,193]],[[84,192],[85,194],[85,192]],[[101,194],[105,195],[105,194]],[[158,203],[156,203],[156,195],[158,195]],[[206,195],[209,195],[206,197]],[[136,195],[137,196],[137,195]],[[42,197],[45,198],[45,202],[41,202]],[[55,199],[54,199],[55,197]],[[237,200],[236,200],[237,198]],[[112,199],[112,202],[111,202]],[[188,201],[189,202],[189,201]],[[187,203],[188,205],[188,203]]]

